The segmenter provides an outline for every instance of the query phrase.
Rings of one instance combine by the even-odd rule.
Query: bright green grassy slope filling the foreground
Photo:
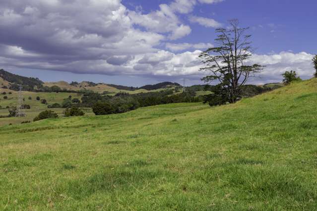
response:
[[[0,210],[317,210],[317,80],[0,127]]]

